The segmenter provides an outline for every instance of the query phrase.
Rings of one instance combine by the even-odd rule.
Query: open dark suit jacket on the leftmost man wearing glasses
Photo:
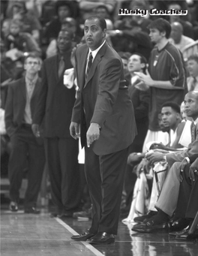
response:
[[[34,87],[31,96],[31,116],[34,116],[40,91],[40,78]],[[7,101],[5,105],[5,127],[7,134],[12,136],[23,123],[26,107],[26,80],[21,78],[8,86]]]

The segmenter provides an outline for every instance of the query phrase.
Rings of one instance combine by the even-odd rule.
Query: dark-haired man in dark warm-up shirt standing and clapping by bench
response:
[[[151,41],[156,44],[151,51],[147,74],[136,73],[141,80],[136,84],[139,89],[149,89],[151,93],[149,108],[149,126],[145,138],[147,141],[156,141],[159,126],[157,115],[161,106],[169,99],[181,104],[186,88],[186,77],[184,72],[184,60],[181,53],[169,43],[171,26],[168,21],[157,19],[151,22]],[[161,72],[163,70],[163,72]],[[143,147],[145,152],[145,146]]]

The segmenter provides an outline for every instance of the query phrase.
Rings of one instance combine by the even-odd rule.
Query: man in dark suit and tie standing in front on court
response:
[[[127,150],[136,135],[121,58],[105,41],[106,31],[101,17],[85,22],[86,44],[76,51],[79,90],[70,127],[71,136],[80,136],[86,149],[86,179],[93,204],[89,232],[71,238],[95,244],[115,241]]]

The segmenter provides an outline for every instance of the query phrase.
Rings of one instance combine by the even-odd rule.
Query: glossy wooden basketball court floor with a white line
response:
[[[47,209],[40,215],[13,213],[1,205],[1,256],[197,256],[198,242],[170,239],[168,233],[153,234],[131,231],[133,224],[119,223],[114,244],[93,247],[88,242],[71,240],[83,233],[90,221],[50,218]]]

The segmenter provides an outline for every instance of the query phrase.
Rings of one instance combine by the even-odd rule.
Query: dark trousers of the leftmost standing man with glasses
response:
[[[10,137],[11,152],[8,164],[10,180],[10,200],[19,202],[20,186],[23,170],[28,164],[28,187],[26,189],[24,206],[35,206],[45,164],[43,144],[38,144],[31,131],[31,125],[23,125]]]

